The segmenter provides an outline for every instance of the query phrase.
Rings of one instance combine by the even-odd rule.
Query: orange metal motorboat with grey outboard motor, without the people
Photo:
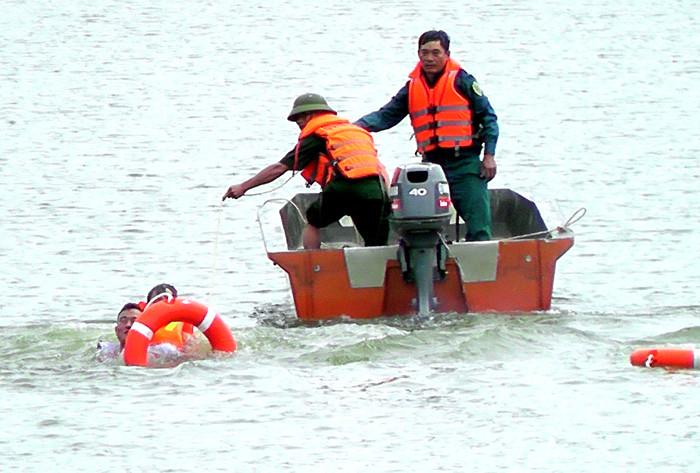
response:
[[[346,218],[321,229],[321,249],[303,249],[303,216],[314,193],[283,201],[278,211],[285,240],[281,248],[270,248],[259,211],[267,256],[288,275],[297,317],[550,309],[556,262],[574,244],[569,228],[574,217],[548,229],[534,202],[511,189],[491,189],[492,240],[460,241],[448,189],[437,165],[397,168],[390,187],[389,244],[379,247],[362,246]],[[273,201],[280,199],[268,200],[261,209]]]

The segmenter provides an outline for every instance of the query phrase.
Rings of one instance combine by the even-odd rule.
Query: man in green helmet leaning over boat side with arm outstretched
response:
[[[301,130],[294,149],[247,181],[228,188],[222,200],[238,199],[248,190],[274,181],[285,172],[301,170],[307,186],[317,182],[322,192],[306,211],[306,249],[321,247],[320,230],[349,215],[365,246],[387,244],[391,204],[386,170],[377,159],[372,136],[337,116],[326,99],[304,94],[287,117]]]

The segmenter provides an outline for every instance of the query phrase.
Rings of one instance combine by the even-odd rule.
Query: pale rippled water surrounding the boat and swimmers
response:
[[[2,471],[698,471],[700,377],[629,365],[700,339],[695,1],[5,1],[0,16]],[[300,93],[357,119],[431,28],[499,115],[498,176],[578,208],[552,309],[295,321],[256,214]],[[389,169],[402,123],[375,135]],[[558,220],[557,220],[558,219]],[[159,282],[239,350],[98,363]]]

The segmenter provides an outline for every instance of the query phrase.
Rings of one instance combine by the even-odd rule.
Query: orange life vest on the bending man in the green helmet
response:
[[[302,140],[314,133],[326,141],[330,156],[321,154],[304,167],[301,175],[306,179],[307,185],[318,182],[322,188],[325,187],[336,170],[349,179],[382,176],[388,182],[386,170],[377,159],[372,135],[332,113],[315,116],[301,130],[294,152],[294,169],[297,169]]]

